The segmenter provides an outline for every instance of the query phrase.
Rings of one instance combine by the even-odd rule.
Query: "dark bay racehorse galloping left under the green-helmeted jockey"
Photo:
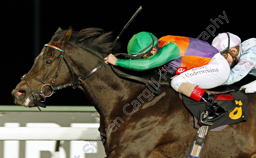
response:
[[[53,88],[76,81],[94,70],[107,54],[116,51],[112,49],[112,42],[110,33],[102,33],[101,29],[72,32],[71,27],[59,28],[35,59],[34,66],[23,76],[23,81],[12,91],[15,103],[34,107],[34,100],[51,95]],[[63,62],[58,68],[63,49],[66,57],[63,60],[68,64]],[[101,137],[97,141],[102,141],[107,158],[189,156],[197,129],[192,115],[169,82],[170,79],[162,79],[161,93],[153,96],[149,85],[118,77],[110,65],[104,65],[83,82],[73,85],[86,94],[100,114]],[[256,93],[246,95],[248,121],[228,125],[220,132],[209,131],[202,158],[252,158],[256,155]]]

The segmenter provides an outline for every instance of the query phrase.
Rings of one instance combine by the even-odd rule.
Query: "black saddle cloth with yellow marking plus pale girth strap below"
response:
[[[206,134],[208,130],[220,131],[229,124],[238,123],[248,119],[247,97],[241,92],[226,91],[220,93],[211,93],[209,97],[224,108],[228,113],[212,124],[202,123],[202,117],[206,117],[206,109],[210,106],[208,102],[196,102],[184,95],[182,100],[187,109],[194,115],[195,127],[199,128],[194,138],[194,143],[190,152],[190,158],[199,158]],[[204,112],[206,111],[206,112]],[[203,115],[202,114],[206,114]],[[196,122],[197,120],[197,122]],[[200,122],[201,121],[201,122]],[[198,123],[199,125],[197,125]],[[208,122],[211,123],[211,122]]]

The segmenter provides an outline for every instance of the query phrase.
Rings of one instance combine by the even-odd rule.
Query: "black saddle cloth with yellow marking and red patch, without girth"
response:
[[[211,104],[208,102],[196,102],[186,96],[182,96],[183,103],[187,109],[194,115],[197,121],[200,121],[200,115],[206,111]],[[229,113],[225,114],[219,120],[213,122],[212,126],[209,126],[208,130],[217,128],[222,125],[234,124],[248,119],[247,97],[241,92],[231,92],[224,94],[212,94],[210,97],[219,106],[224,108]]]

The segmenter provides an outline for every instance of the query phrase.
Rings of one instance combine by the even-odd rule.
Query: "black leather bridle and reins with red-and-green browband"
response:
[[[69,43],[70,43],[70,42],[69,42]],[[71,44],[73,44],[73,43],[71,43]],[[75,45],[75,44],[74,44],[74,45]],[[91,70],[89,73],[87,73],[87,74],[84,75],[83,77],[80,77],[80,78],[77,79],[76,81],[74,81],[74,82],[70,82],[70,81],[69,81],[68,84],[63,84],[63,85],[60,85],[60,86],[57,86],[57,87],[53,88],[52,85],[54,84],[56,78],[57,78],[58,75],[59,75],[59,71],[60,71],[60,67],[61,67],[61,64],[62,64],[63,59],[64,59],[66,65],[67,65],[67,67],[69,68],[70,73],[71,73],[72,75],[74,75],[74,73],[73,73],[71,67],[69,66],[68,61],[66,60],[66,57],[64,56],[66,45],[63,46],[63,49],[60,49],[60,48],[58,48],[58,47],[56,47],[56,46],[53,46],[53,45],[50,45],[50,44],[45,44],[44,46],[45,46],[45,47],[51,47],[51,48],[56,49],[56,50],[58,50],[58,51],[61,52],[61,54],[60,54],[60,56],[59,56],[59,60],[58,60],[57,64],[55,65],[54,69],[52,70],[52,72],[48,75],[48,77],[47,77],[44,81],[43,81],[43,80],[40,80],[40,79],[38,79],[38,78],[36,78],[36,77],[30,76],[30,75],[28,75],[28,74],[25,74],[25,75],[23,75],[23,77],[21,77],[21,80],[25,80],[25,81],[27,82],[27,84],[28,84],[28,86],[29,86],[29,88],[30,88],[30,91],[31,91],[31,93],[32,93],[32,96],[33,96],[33,98],[34,98],[34,102],[33,102],[33,103],[34,103],[35,107],[37,107],[40,111],[41,111],[41,109],[39,108],[39,106],[40,106],[40,107],[43,107],[43,108],[46,108],[46,105],[44,105],[43,103],[40,103],[40,102],[44,102],[44,101],[46,100],[46,98],[47,98],[47,97],[50,97],[50,96],[53,94],[53,92],[54,92],[55,90],[59,90],[59,89],[66,88],[66,87],[69,87],[69,86],[74,87],[73,85],[75,85],[75,84],[77,84],[77,83],[82,84],[82,83],[83,83],[83,80],[84,80],[86,77],[90,76],[92,73],[94,73],[96,70],[100,69],[100,68],[105,64],[105,60],[103,60],[97,67],[95,67],[95,68],[94,68],[93,70]],[[77,45],[76,45],[76,46],[77,46]],[[79,47],[80,47],[80,46],[79,46]],[[83,48],[83,47],[81,47],[81,48]],[[89,51],[89,52],[92,52],[92,51],[89,50],[89,49],[86,49],[86,48],[83,48],[83,49],[84,49],[84,50],[87,50],[87,51]],[[94,53],[94,52],[92,52],[92,53]],[[125,56],[125,57],[129,57],[129,58],[131,58],[131,59],[140,59],[140,58],[138,58],[138,57],[134,57],[134,56],[132,56],[132,55],[125,54],[125,53],[114,54],[114,56],[118,56],[118,55],[122,55],[122,56]],[[58,70],[57,70],[57,72],[56,72],[56,74],[55,74],[55,77],[53,78],[51,84],[45,84],[45,83],[50,79],[50,77],[52,76],[52,74],[54,73],[54,71],[56,70],[57,67],[58,67]],[[114,70],[113,65],[111,65],[111,67],[112,67],[112,70],[114,71],[114,73],[115,73],[116,75],[118,75],[119,77],[124,77],[124,78],[130,78],[130,79],[133,79],[133,80],[140,80],[140,81],[147,81],[147,82],[149,82],[148,80],[146,80],[146,79],[144,79],[144,78],[141,78],[141,77],[136,77],[136,76],[132,76],[132,75],[128,75],[128,74],[119,73],[119,72],[117,72],[116,70]],[[34,90],[32,89],[32,87],[31,87],[30,83],[27,81],[28,78],[32,78],[32,79],[34,79],[34,80],[37,80],[37,81],[40,81],[41,83],[43,83],[44,85],[41,87],[41,90],[40,90],[40,91],[34,91]],[[160,77],[159,77],[159,82],[158,82],[158,84],[160,83],[160,81],[161,81],[161,75],[160,75]],[[49,87],[51,88],[52,93],[51,93],[50,95],[48,95],[48,96],[47,96],[47,95],[44,95],[44,93],[43,93],[43,91],[42,91],[42,89],[43,89],[44,86],[49,86]],[[159,86],[157,86],[157,87],[158,87],[158,89],[153,93],[153,95],[158,95],[158,94],[160,93]],[[43,98],[44,100],[43,100],[43,101],[37,100],[37,97],[36,97],[35,94],[38,94],[38,95],[41,96],[41,98]]]

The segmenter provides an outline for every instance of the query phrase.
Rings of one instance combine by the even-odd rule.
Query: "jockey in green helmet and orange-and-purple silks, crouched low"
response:
[[[141,59],[117,59],[109,54],[106,64],[143,71],[161,67],[172,74],[179,74],[171,81],[171,87],[193,100],[211,104],[208,117],[203,121],[214,122],[227,112],[209,98],[204,89],[226,83],[229,64],[209,43],[181,36],[164,36],[159,40],[152,33],[134,35],[127,46],[128,54]]]

